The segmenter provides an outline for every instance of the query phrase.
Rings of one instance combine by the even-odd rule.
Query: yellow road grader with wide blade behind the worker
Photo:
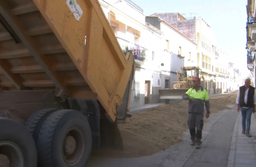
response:
[[[181,67],[181,73],[176,71],[178,80],[172,82],[172,89],[160,89],[160,99],[165,99],[169,103],[169,99],[182,99],[183,94],[193,87],[193,77],[203,77],[199,67]]]

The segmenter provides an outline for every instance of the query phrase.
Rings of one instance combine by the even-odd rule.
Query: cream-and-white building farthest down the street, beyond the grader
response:
[[[202,86],[209,94],[225,93],[229,87],[227,53],[217,46],[216,35],[211,25],[202,17],[186,19],[180,13],[154,13],[151,16],[166,20],[197,44],[197,53],[193,61],[202,70]]]

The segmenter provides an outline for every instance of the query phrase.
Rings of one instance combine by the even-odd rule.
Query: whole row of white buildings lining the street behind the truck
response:
[[[136,73],[130,107],[159,103],[158,90],[172,88],[181,67],[202,69],[202,85],[210,94],[229,90],[226,53],[201,17],[179,13],[145,16],[130,0],[99,0],[123,52],[132,50]]]

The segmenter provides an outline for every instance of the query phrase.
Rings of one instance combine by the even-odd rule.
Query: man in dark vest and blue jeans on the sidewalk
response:
[[[251,87],[251,80],[246,79],[245,85],[239,88],[237,94],[237,111],[241,110],[242,114],[242,133],[251,138],[251,116],[252,112],[255,113],[255,88]],[[246,131],[246,132],[245,132]]]

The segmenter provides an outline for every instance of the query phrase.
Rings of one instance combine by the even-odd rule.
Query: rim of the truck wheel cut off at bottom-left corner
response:
[[[13,167],[23,167],[23,154],[20,147],[11,141],[0,142],[0,154],[6,156]]]

